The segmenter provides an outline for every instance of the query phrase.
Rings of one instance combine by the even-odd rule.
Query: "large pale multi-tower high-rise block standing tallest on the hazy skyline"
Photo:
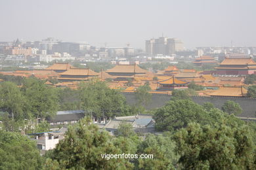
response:
[[[145,45],[147,56],[156,56],[158,54],[171,56],[175,52],[184,50],[184,44],[181,40],[167,37],[147,40]]]

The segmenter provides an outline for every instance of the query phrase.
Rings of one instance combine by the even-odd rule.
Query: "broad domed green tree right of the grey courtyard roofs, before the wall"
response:
[[[212,123],[209,113],[202,106],[190,100],[169,101],[154,114],[156,129],[175,131],[186,127],[189,122]]]

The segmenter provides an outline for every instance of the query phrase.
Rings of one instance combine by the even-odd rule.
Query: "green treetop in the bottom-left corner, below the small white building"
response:
[[[35,142],[19,133],[0,131],[0,169],[41,169]]]

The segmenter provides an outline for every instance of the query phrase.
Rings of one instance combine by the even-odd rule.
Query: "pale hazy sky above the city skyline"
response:
[[[143,48],[176,37],[186,48],[256,46],[255,0],[1,0],[0,41],[54,37]]]

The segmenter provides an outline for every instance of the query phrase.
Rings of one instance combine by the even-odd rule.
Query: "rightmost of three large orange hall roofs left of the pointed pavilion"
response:
[[[116,65],[108,69],[106,73],[147,73],[148,71],[140,68],[138,65]]]

